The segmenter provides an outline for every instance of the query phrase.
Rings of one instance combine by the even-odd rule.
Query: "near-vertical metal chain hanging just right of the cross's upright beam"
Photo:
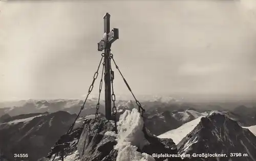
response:
[[[115,122],[115,132],[117,133],[117,118],[116,118],[117,109],[116,109],[116,105],[115,105],[116,95],[114,93],[114,85],[113,85],[113,82],[114,82],[114,71],[112,70],[112,67],[111,67],[111,58],[112,57],[110,57],[110,74],[111,74],[111,86],[112,86],[111,99],[113,101],[112,115],[114,117],[114,122]]]

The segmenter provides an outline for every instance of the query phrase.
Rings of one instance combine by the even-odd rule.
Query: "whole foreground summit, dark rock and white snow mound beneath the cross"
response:
[[[143,118],[137,109],[126,110],[120,116],[117,133],[114,132],[113,124],[113,121],[108,121],[104,117],[86,117],[83,126],[74,128],[65,140],[59,140],[52,147],[48,159],[44,159],[60,160],[60,145],[68,145],[64,147],[65,161],[158,161],[167,158],[153,157],[153,153],[177,154],[172,139],[159,139],[145,128]],[[172,160],[178,161],[180,158]]]

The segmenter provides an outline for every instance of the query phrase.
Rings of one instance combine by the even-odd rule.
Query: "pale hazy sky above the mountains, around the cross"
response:
[[[0,3],[0,100],[87,94],[106,12],[135,95],[256,98],[256,16],[247,2]],[[114,84],[117,95],[130,94],[117,72]]]

